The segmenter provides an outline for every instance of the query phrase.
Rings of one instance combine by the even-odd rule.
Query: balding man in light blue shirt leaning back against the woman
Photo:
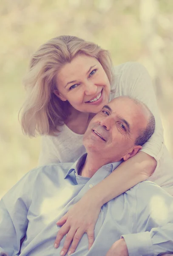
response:
[[[128,106],[128,108],[127,108]],[[76,163],[39,167],[26,174],[0,202],[0,252],[9,256],[58,255],[55,223],[85,192],[128,160],[153,134],[155,122],[145,105],[118,97],[90,122],[83,143],[87,154]],[[145,181],[102,207],[88,251],[82,236],[73,255],[161,255],[173,252],[173,197]],[[20,248],[20,240],[26,236]],[[120,239],[123,237],[123,239]],[[111,248],[111,249],[110,249]]]

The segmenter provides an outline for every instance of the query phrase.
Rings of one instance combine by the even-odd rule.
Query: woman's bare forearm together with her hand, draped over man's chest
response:
[[[57,225],[63,226],[57,234],[54,246],[58,248],[60,241],[67,234],[61,252],[64,256],[72,242],[69,252],[73,253],[83,234],[87,233],[88,247],[90,248],[94,242],[94,227],[102,205],[137,183],[146,180],[155,168],[156,160],[144,152],[138,152],[135,156],[121,163],[108,177],[91,188],[57,222]]]

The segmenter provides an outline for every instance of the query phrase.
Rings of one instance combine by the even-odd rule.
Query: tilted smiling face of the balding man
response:
[[[99,154],[106,162],[127,160],[126,155],[135,147],[142,148],[135,146],[135,141],[139,131],[146,128],[147,121],[144,107],[127,97],[118,97],[91,120],[83,144],[87,152]]]

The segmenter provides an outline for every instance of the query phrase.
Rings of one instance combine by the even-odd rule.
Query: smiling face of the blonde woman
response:
[[[54,93],[78,111],[98,113],[109,101],[110,82],[96,58],[77,55],[57,75]]]

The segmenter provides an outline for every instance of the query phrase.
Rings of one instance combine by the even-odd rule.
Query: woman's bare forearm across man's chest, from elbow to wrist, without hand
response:
[[[102,206],[121,195],[141,181],[147,180],[156,168],[156,160],[139,151],[135,156],[121,163],[114,172],[84,195],[98,201]],[[89,195],[90,194],[90,195]]]

